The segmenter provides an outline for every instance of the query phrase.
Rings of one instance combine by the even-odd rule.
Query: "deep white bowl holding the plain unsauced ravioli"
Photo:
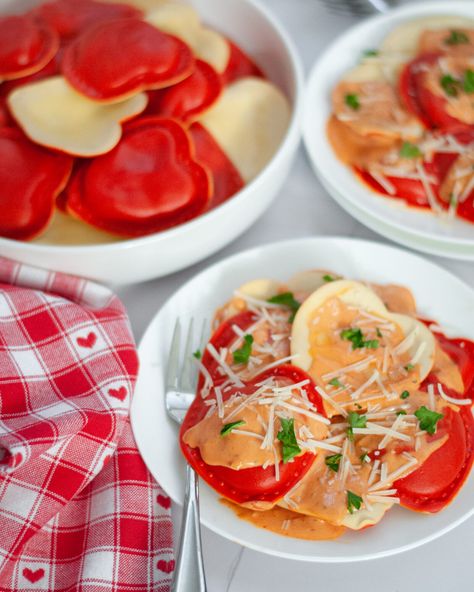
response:
[[[5,0],[3,9],[38,2]],[[96,279],[126,284],[183,269],[221,249],[268,208],[282,186],[300,139],[303,70],[293,43],[256,0],[192,0],[203,20],[237,41],[289,98],[287,133],[265,169],[223,205],[170,230],[100,245],[54,246],[0,238],[0,255]]]

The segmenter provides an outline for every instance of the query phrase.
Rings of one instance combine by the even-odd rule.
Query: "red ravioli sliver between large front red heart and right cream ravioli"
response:
[[[214,191],[209,208],[214,208],[240,191],[245,183],[227,154],[204,126],[196,121],[189,128],[189,132],[193,139],[197,160],[202,162],[212,174]]]

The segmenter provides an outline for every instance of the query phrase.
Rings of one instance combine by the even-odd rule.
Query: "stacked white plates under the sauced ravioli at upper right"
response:
[[[456,257],[456,250],[463,258],[474,259],[474,224],[461,219],[446,221],[430,212],[405,206],[401,200],[384,197],[361,183],[349,167],[336,157],[326,134],[327,120],[331,112],[331,91],[343,74],[354,67],[359,56],[367,48],[378,47],[389,31],[399,24],[423,16],[445,14],[474,17],[472,2],[423,2],[404,6],[388,14],[368,19],[341,35],[318,59],[309,76],[304,114],[304,141],[317,175],[337,189],[344,203],[342,207],[356,207],[370,219],[381,222],[399,233],[394,240],[405,242],[409,235],[411,244],[430,253]],[[332,192],[331,192],[332,193]],[[349,213],[349,207],[346,208]],[[360,219],[360,218],[359,218]],[[360,219],[365,223],[364,219]],[[369,224],[368,224],[369,225]],[[417,246],[419,241],[420,247]],[[425,242],[424,242],[425,241]],[[430,248],[433,245],[433,249]],[[424,246],[424,248],[423,248]]]

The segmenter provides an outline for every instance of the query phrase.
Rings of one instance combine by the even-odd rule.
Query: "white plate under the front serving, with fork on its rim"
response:
[[[411,253],[378,243],[344,238],[307,238],[274,243],[216,263],[182,286],[150,323],[139,347],[141,370],[132,404],[132,427],[153,476],[182,503],[185,463],[177,426],[163,399],[163,369],[177,317],[210,318],[244,282],[259,277],[285,280],[321,267],[344,276],[409,286],[422,315],[474,338],[474,292],[459,279]],[[469,335],[467,335],[469,336]],[[474,514],[474,475],[440,514],[425,516],[395,508],[375,528],[349,532],[337,541],[302,541],[267,532],[239,520],[207,485],[201,488],[201,520],[242,545],[290,559],[349,562],[384,557],[422,545]]]

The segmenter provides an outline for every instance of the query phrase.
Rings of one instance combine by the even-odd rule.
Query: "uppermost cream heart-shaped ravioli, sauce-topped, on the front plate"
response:
[[[335,303],[340,302],[342,307],[337,308]],[[331,303],[333,303],[331,308]],[[323,308],[325,307],[325,308]],[[367,379],[367,388],[370,384],[375,382],[375,376],[373,364],[377,363],[377,360],[372,359],[369,363],[370,358],[375,358],[376,355],[382,357],[382,351],[385,347],[375,347],[374,349],[354,349],[351,348],[350,343],[344,339],[339,338],[340,330],[338,315],[342,315],[342,310],[362,311],[354,314],[365,315],[368,323],[376,325],[378,322],[382,325],[393,327],[392,331],[396,331],[393,335],[397,335],[399,341],[394,344],[387,345],[387,349],[391,352],[387,356],[387,368],[385,371],[378,371],[378,379],[380,381],[386,380],[385,386],[387,391],[390,393],[400,390],[398,387],[402,384],[406,384],[410,377],[401,376],[397,381],[388,378],[389,372],[392,368],[396,368],[400,364],[400,361],[395,362],[395,359],[400,356],[405,356],[408,360],[405,364],[408,366],[413,361],[413,368],[416,369],[415,382],[419,385],[429,374],[433,363],[435,354],[435,339],[431,331],[417,319],[400,314],[390,313],[382,300],[375,294],[373,290],[361,284],[350,280],[336,280],[330,282],[321,288],[317,289],[309,298],[307,298],[301,307],[299,308],[295,319],[293,321],[293,328],[291,333],[291,353],[295,355],[294,364],[300,366],[304,370],[308,371],[313,378],[323,387],[330,388],[327,383],[329,379],[334,375],[338,376],[340,368],[347,368],[348,372],[354,372],[350,366],[354,363],[364,364],[367,361],[365,367],[360,368],[357,372],[357,380],[364,384]],[[327,315],[336,315],[330,320],[330,326],[334,325],[331,331],[328,330],[325,322]],[[374,319],[372,322],[371,319]],[[376,321],[378,319],[379,321]],[[365,325],[361,327],[361,331],[365,331]],[[337,336],[335,337],[333,331],[335,330]],[[380,334],[382,336],[382,334]],[[340,339],[340,342],[338,341]],[[386,337],[386,340],[389,338]],[[378,343],[378,342],[377,342]],[[327,349],[327,348],[330,349]],[[326,365],[325,356],[329,355],[329,352],[334,353],[333,347],[339,348],[338,353],[341,353],[341,359],[348,360],[347,366],[343,364],[336,366],[335,372],[321,372],[320,368]],[[389,353],[387,351],[387,354]],[[385,351],[384,351],[385,353]],[[396,355],[393,355],[396,354]],[[336,358],[334,358],[336,359]],[[400,358],[401,359],[401,358]],[[361,361],[361,362],[360,362]],[[339,363],[339,358],[338,358]],[[411,365],[411,364],[410,364]],[[369,369],[370,367],[370,369]],[[405,373],[406,374],[406,373]],[[377,373],[375,373],[377,375]],[[323,378],[324,377],[324,378]],[[371,380],[372,377],[372,380]],[[384,378],[385,377],[385,378]],[[350,382],[349,382],[350,384]],[[412,387],[414,386],[411,382],[409,383]],[[357,393],[359,390],[359,384],[357,388],[354,388],[354,392]],[[382,387],[375,385],[377,392],[380,392],[380,398],[384,399],[384,390]],[[337,385],[334,390],[339,388]],[[374,388],[374,387],[371,387]],[[404,386],[403,388],[407,388]],[[361,389],[363,393],[365,388]],[[403,390],[403,389],[402,389]],[[350,395],[346,392],[345,395],[341,395],[347,398],[347,402],[351,401]],[[395,394],[395,396],[397,396]],[[357,395],[354,395],[354,404],[358,401]],[[345,401],[345,399],[344,399]],[[390,398],[387,398],[387,403]],[[346,402],[346,403],[347,403]],[[338,400],[341,403],[341,400]],[[335,409],[330,409],[331,414],[334,414]]]

